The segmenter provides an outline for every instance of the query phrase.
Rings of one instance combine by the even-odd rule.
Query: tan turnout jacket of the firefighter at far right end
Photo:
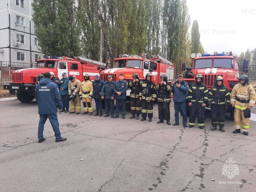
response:
[[[40,81],[41,82],[41,81]],[[247,103],[241,103],[237,99],[248,100]],[[235,108],[245,110],[248,106],[253,107],[256,102],[255,90],[250,84],[244,86],[239,83],[234,86],[230,96],[230,103],[235,104]]]

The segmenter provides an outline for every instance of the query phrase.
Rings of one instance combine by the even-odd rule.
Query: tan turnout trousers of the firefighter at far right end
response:
[[[250,118],[244,118],[243,110],[235,108],[234,124],[236,129],[242,128],[242,131],[248,132],[250,126]]]

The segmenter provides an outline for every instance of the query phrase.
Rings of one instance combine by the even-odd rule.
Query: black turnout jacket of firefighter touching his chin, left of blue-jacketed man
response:
[[[170,93],[172,92],[172,84],[166,83],[166,85],[164,85],[164,83],[162,83],[161,85],[161,83],[159,83],[156,86],[156,90],[158,91],[157,102],[171,102]]]

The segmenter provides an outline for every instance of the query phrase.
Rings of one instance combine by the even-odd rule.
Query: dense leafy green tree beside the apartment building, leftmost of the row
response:
[[[34,0],[33,21],[40,50],[49,56],[79,56],[83,0]]]

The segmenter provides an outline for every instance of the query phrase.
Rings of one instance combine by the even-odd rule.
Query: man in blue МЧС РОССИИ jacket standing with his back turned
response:
[[[62,102],[60,100],[58,86],[52,82],[50,78],[50,73],[44,73],[44,78],[40,79],[40,82],[36,87],[36,101],[38,103],[38,114],[40,117],[38,125],[38,143],[45,141],[43,135],[44,124],[48,118],[52,129],[55,132],[55,141],[60,142],[67,140],[67,138],[62,138],[60,136],[57,107],[61,110]]]

